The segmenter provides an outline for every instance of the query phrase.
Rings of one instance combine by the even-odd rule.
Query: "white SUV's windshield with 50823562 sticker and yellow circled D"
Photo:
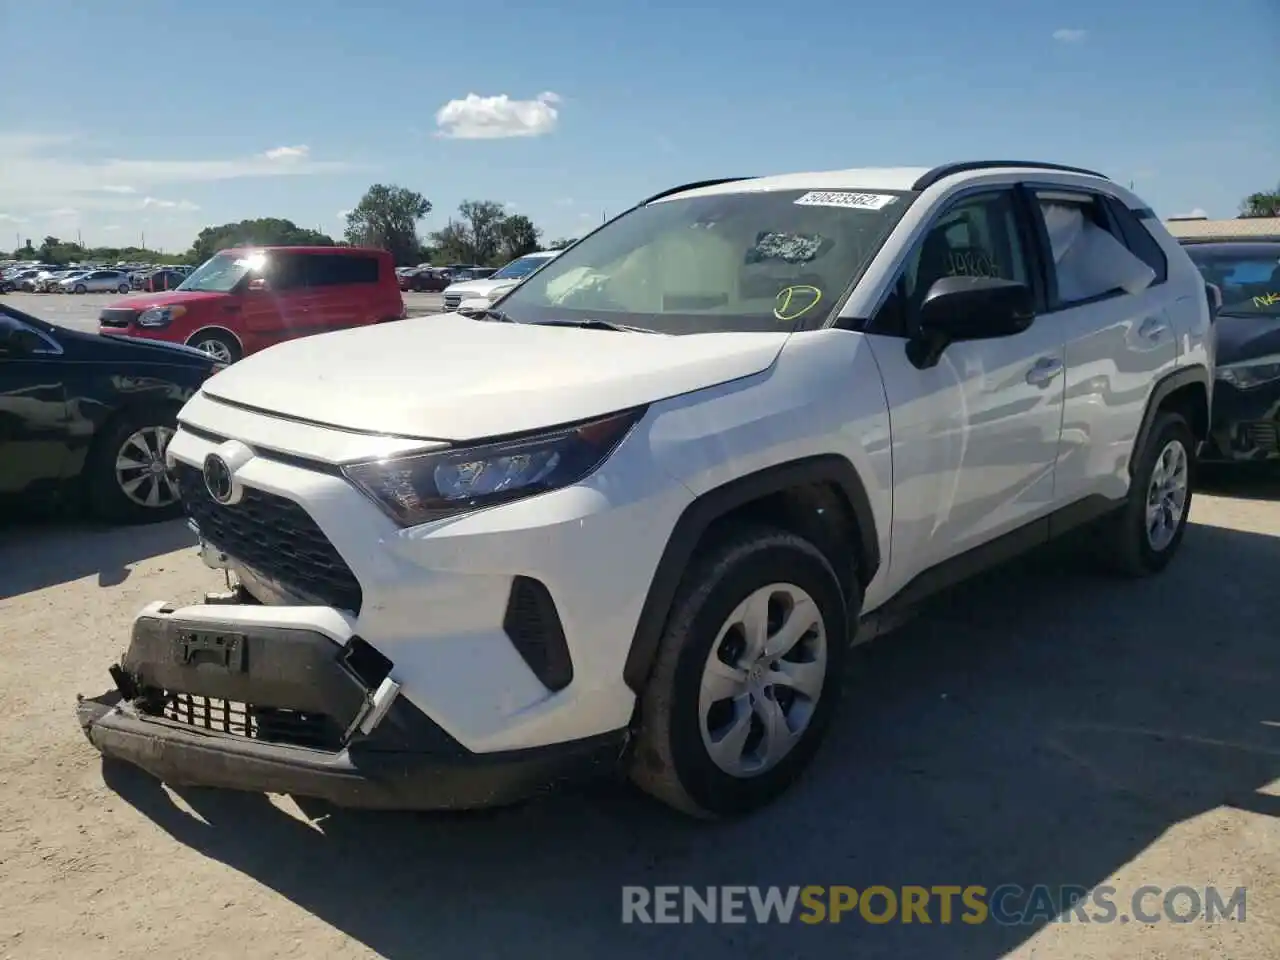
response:
[[[600,228],[502,301],[517,323],[658,333],[820,326],[913,195],[756,191],[659,200]]]

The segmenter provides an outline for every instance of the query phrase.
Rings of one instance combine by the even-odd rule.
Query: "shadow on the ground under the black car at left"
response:
[[[192,547],[183,520],[111,527],[59,517],[0,525],[0,600],[97,575],[100,586],[128,580],[131,564]]]

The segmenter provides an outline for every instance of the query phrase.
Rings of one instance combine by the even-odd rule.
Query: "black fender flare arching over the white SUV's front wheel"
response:
[[[794,486],[822,483],[833,484],[849,500],[858,524],[858,539],[852,544],[858,576],[863,585],[870,581],[881,562],[876,516],[872,513],[867,488],[849,460],[838,454],[805,457],[730,480],[690,503],[672,527],[667,547],[649,582],[649,593],[640,609],[640,620],[636,622],[631,649],[622,669],[622,677],[632,691],[639,694],[644,690],[680,581],[710,525],[751,500]]]

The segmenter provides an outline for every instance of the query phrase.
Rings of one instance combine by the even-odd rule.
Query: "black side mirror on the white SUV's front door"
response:
[[[1024,283],[943,276],[920,305],[919,330],[908,342],[908,358],[923,370],[934,366],[950,343],[1012,337],[1034,319],[1036,301]]]

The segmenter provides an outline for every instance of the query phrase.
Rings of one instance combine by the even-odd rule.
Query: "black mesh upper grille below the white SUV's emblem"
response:
[[[298,503],[247,486],[239,503],[223,506],[196,467],[178,463],[174,477],[201,539],[291,593],[360,613],[360,581]]]

